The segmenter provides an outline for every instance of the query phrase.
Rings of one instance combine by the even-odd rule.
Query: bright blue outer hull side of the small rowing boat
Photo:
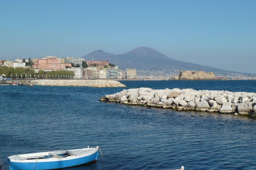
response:
[[[81,164],[89,163],[94,160],[97,160],[98,158],[98,151],[85,156],[80,157],[76,159],[70,159],[70,160],[61,160],[61,161],[52,161],[52,162],[11,162],[10,159],[8,159],[10,170],[46,170],[46,169],[59,169],[59,168],[65,168],[65,167],[72,167],[72,166],[78,166]]]

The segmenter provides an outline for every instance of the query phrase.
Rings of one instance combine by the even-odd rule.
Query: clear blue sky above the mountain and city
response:
[[[122,54],[256,74],[256,0],[1,0],[0,59]]]

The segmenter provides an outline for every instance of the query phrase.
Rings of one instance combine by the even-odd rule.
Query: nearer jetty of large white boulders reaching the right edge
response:
[[[101,97],[100,101],[174,110],[256,115],[256,93],[194,89],[128,89]]]

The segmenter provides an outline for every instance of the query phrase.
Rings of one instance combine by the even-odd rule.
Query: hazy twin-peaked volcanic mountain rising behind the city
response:
[[[163,70],[163,69],[178,69],[178,70],[197,70],[197,71],[213,71],[213,72],[229,72],[223,69],[207,67],[190,62],[178,61],[167,57],[153,48],[138,47],[124,54],[112,54],[102,50],[96,50],[83,56],[86,60],[109,60],[110,63],[118,65],[119,69],[136,68],[138,70]],[[233,72],[232,72],[233,73]]]

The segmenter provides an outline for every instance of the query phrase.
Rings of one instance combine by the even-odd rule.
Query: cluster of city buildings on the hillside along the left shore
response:
[[[86,61],[84,58],[66,57],[58,58],[55,56],[45,56],[44,58],[29,58],[29,59],[16,59],[15,61],[0,60],[0,67],[12,67],[12,68],[26,68],[33,70],[32,77],[34,78],[60,78],[60,75],[47,75],[47,72],[53,71],[72,71],[73,75],[69,78],[75,79],[137,79],[136,69],[127,68],[124,71],[118,69],[117,65],[111,64],[108,61]],[[43,71],[43,73],[42,73]],[[4,75],[4,71],[2,71]],[[11,75],[13,77],[27,77],[28,71],[23,71],[18,74],[13,71]],[[39,74],[40,73],[40,74]],[[56,73],[56,72],[55,72]],[[14,76],[15,74],[15,76]],[[23,75],[22,75],[23,74]],[[36,76],[36,74],[38,74]],[[1,75],[1,72],[0,72]],[[43,77],[45,75],[45,77]],[[31,78],[31,73],[28,75]],[[65,76],[65,75],[61,75]]]

